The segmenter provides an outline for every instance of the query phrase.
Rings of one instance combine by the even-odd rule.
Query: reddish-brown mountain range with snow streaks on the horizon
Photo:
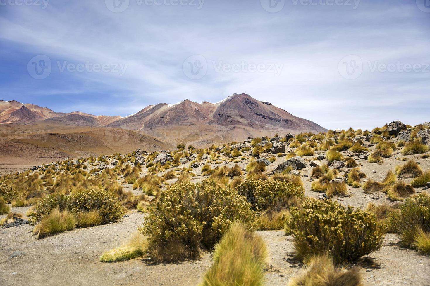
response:
[[[141,132],[162,141],[204,143],[274,132],[324,132],[325,128],[249,94],[233,94],[217,102],[149,105],[127,117],[61,113],[33,104],[0,100],[0,123],[58,123],[70,126],[114,127]]]

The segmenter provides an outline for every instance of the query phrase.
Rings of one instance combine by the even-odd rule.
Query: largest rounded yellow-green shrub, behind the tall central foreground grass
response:
[[[234,220],[249,227],[255,220],[243,196],[214,181],[183,182],[161,191],[141,231],[152,259],[180,261],[211,249]]]

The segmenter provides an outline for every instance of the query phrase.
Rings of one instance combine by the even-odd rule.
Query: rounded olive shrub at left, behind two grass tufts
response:
[[[68,207],[74,213],[98,210],[102,224],[115,222],[124,213],[123,207],[113,193],[96,188],[72,193],[68,199]]]

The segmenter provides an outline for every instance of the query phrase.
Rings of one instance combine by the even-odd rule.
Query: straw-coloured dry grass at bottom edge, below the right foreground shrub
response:
[[[347,270],[334,265],[328,255],[314,256],[302,273],[289,281],[289,286],[363,286],[358,268]]]

